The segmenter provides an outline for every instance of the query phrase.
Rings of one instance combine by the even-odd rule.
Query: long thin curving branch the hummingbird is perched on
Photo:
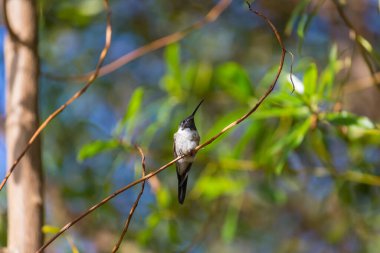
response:
[[[198,150],[210,145],[212,142],[214,142],[217,138],[219,138],[223,133],[225,133],[226,131],[228,131],[229,129],[231,129],[232,127],[238,125],[239,123],[241,123],[242,121],[244,121],[246,118],[248,118],[253,112],[255,112],[257,110],[257,108],[263,103],[263,101],[268,97],[268,95],[273,91],[276,83],[277,83],[277,80],[281,74],[281,71],[282,71],[282,68],[283,68],[283,65],[284,65],[284,60],[285,60],[285,54],[286,54],[286,49],[284,47],[284,44],[282,42],[282,39],[281,39],[281,36],[280,34],[278,33],[276,27],[273,25],[273,23],[266,17],[264,16],[263,14],[261,14],[260,12],[256,11],[256,10],[253,10],[251,5],[249,3],[248,4],[248,7],[249,7],[249,10],[251,12],[253,12],[254,14],[256,14],[257,16],[261,17],[262,19],[265,20],[265,22],[270,26],[270,28],[272,29],[273,33],[275,34],[275,37],[277,39],[277,41],[279,42],[280,46],[281,46],[281,49],[282,49],[282,53],[281,53],[281,59],[280,59],[280,63],[279,63],[279,67],[278,67],[278,70],[277,70],[277,74],[273,80],[273,83],[271,84],[271,86],[267,89],[267,91],[265,92],[265,94],[259,99],[259,101],[255,104],[255,106],[248,112],[246,113],[245,115],[243,115],[241,118],[237,119],[236,121],[232,122],[231,124],[229,124],[228,126],[226,126],[225,128],[222,129],[222,131],[218,134],[216,134],[214,137],[212,137],[211,139],[209,139],[208,141],[204,142],[203,144],[197,146],[195,148],[195,152],[197,152]],[[154,175],[157,175],[158,173],[162,172],[163,170],[165,170],[166,168],[168,168],[169,166],[173,165],[176,161],[182,159],[183,157],[185,157],[186,155],[182,155],[182,156],[178,156],[177,158],[173,159],[172,161],[170,161],[169,163],[161,166],[159,169],[157,169],[156,171],[153,171],[147,175],[145,175],[144,177],[141,177],[140,179],[137,179],[135,181],[133,181],[132,183],[120,188],[119,190],[115,191],[114,193],[112,193],[111,195],[109,195],[108,197],[104,198],[102,201],[100,201],[99,203],[97,203],[96,205],[92,206],[90,209],[88,209],[87,211],[83,212],[81,215],[79,215],[77,218],[75,218],[74,220],[72,220],[71,222],[67,223],[63,228],[61,228],[61,230],[55,234],[48,242],[46,242],[38,251],[37,253],[40,253],[42,252],[44,249],[46,249],[54,240],[56,240],[60,235],[62,235],[64,232],[66,232],[69,228],[71,228],[73,225],[75,225],[77,222],[79,222],[80,220],[82,220],[84,217],[86,217],[87,215],[89,215],[90,213],[92,213],[93,211],[95,211],[96,209],[98,209],[99,207],[101,207],[102,205],[106,204],[108,201],[110,201],[111,199],[115,198],[117,195],[123,193],[124,191],[128,190],[129,188],[141,183],[141,182],[144,182],[146,181],[147,179],[153,177]]]

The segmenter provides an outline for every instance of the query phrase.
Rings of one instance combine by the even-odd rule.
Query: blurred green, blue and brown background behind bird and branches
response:
[[[106,62],[203,18],[218,1],[111,1]],[[120,252],[379,252],[380,2],[266,0],[253,8],[279,30],[287,55],[276,89],[251,117],[201,150],[184,205],[174,166],[146,185]],[[94,69],[104,45],[100,0],[41,0],[40,115]],[[0,33],[1,43],[4,28]],[[232,1],[183,40],[100,77],[43,132],[49,238],[115,190],[173,158],[173,134],[201,99],[205,141],[271,85],[281,48],[270,27]],[[4,176],[1,52],[0,172]],[[47,252],[110,252],[140,191],[96,210]],[[5,192],[0,242],[6,241]]]

